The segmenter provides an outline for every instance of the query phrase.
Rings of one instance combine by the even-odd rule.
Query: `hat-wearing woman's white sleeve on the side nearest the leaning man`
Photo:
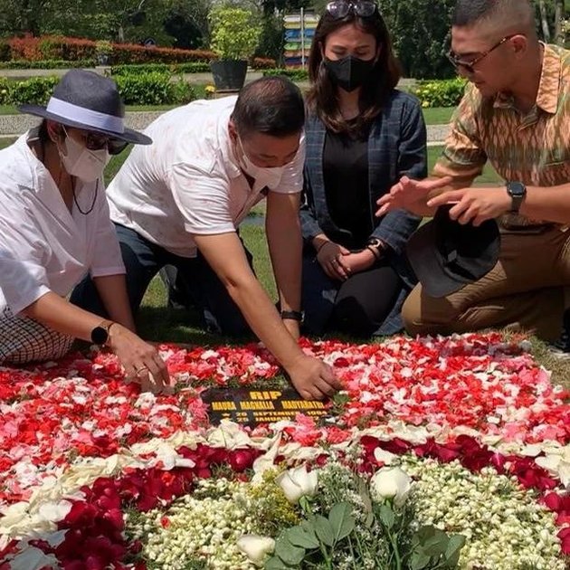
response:
[[[126,273],[125,265],[120,253],[115,225],[109,218],[109,204],[105,197],[104,186],[99,203],[90,275],[91,277],[121,275]]]

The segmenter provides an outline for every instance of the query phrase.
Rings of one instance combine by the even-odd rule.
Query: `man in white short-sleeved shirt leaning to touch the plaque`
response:
[[[133,310],[149,281],[174,265],[211,327],[243,332],[242,318],[290,375],[303,397],[340,386],[329,366],[300,350],[304,103],[285,78],[246,85],[236,99],[195,101],[147,128],[154,144],[136,147],[109,185]],[[281,314],[256,279],[237,228],[267,196],[266,233]],[[94,307],[84,282],[74,295]]]

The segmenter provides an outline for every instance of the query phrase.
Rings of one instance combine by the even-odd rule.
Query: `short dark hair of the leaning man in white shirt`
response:
[[[303,96],[286,77],[262,77],[242,88],[232,119],[243,138],[253,132],[280,138],[294,135],[305,124]]]

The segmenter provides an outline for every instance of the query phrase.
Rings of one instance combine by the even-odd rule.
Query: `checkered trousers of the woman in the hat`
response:
[[[0,313],[0,364],[61,358],[71,348],[74,337],[47,328],[37,320],[18,317],[8,308]]]

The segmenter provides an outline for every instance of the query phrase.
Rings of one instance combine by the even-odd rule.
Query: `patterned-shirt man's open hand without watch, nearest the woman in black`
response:
[[[432,214],[428,211],[426,202],[430,198],[432,190],[437,190],[451,184],[451,176],[424,180],[412,180],[408,176],[402,176],[399,182],[390,188],[388,194],[377,200],[380,207],[376,216],[380,217],[392,210],[403,209],[417,215]]]

